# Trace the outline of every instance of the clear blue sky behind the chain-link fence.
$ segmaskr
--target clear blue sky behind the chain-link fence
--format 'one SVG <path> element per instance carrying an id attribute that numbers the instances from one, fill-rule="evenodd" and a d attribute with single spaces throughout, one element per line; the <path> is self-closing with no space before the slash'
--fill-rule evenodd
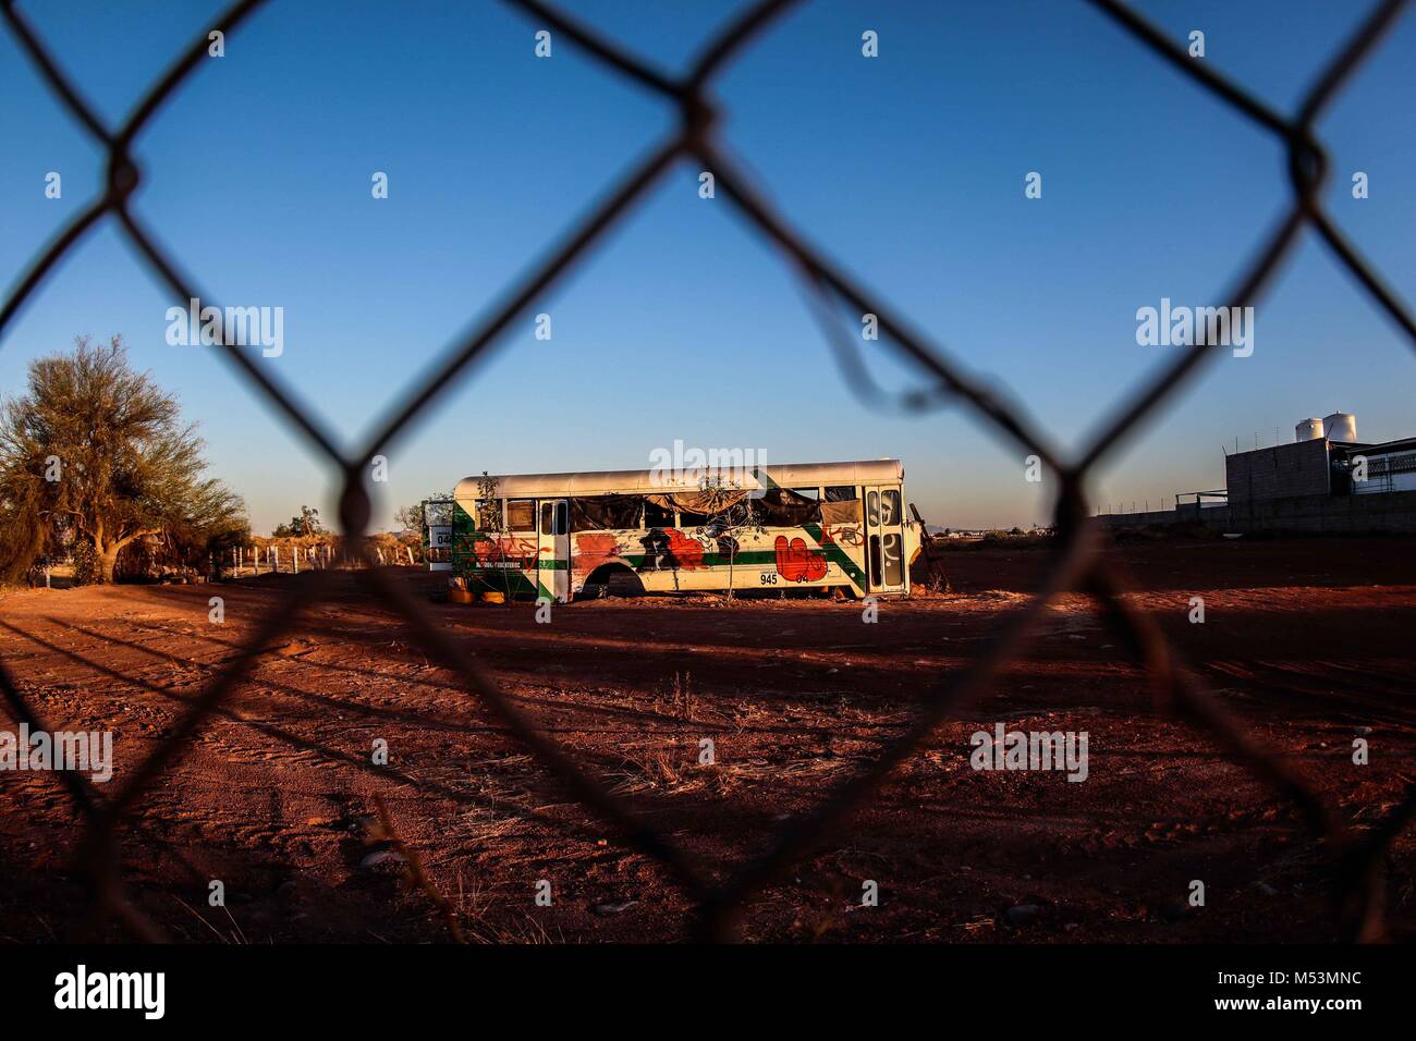
<path id="1" fill-rule="evenodd" d="M 38 34 L 118 122 L 222 7 L 24 3 Z M 1205 61 L 1291 110 L 1368 10 L 1317 0 L 1137 7 Z M 681 69 L 742 4 L 566 4 Z M 263 358 L 347 442 L 396 388 L 489 313 L 558 234 L 671 130 L 657 98 L 569 40 L 481 3 L 282 3 L 205 59 L 137 142 L 136 210 L 222 305 L 282 306 Z M 860 52 L 864 30 L 881 57 Z M 1328 205 L 1416 297 L 1416 16 L 1321 122 Z M 1070 449 L 1172 348 L 1136 310 L 1219 293 L 1289 203 L 1280 146 L 1073 0 L 806 3 L 718 82 L 722 139 L 784 215 Z M 0 31 L 0 278 L 99 190 L 99 150 Z M 48 171 L 64 177 L 44 197 Z M 370 195 L 375 170 L 389 198 Z M 1024 198 L 1041 171 L 1044 197 Z M 1352 200 L 1362 170 L 1371 197 Z M 377 524 L 398 504 L 493 473 L 647 467 L 657 446 L 769 460 L 898 456 L 927 520 L 1046 518 L 1049 489 L 964 408 L 881 415 L 843 382 L 784 263 L 680 166 L 472 380 L 389 450 Z M 333 514 L 330 469 L 211 348 L 171 347 L 174 300 L 110 224 L 92 232 L 0 341 L 0 392 L 78 334 L 122 333 L 201 423 L 214 473 L 266 531 L 302 503 Z M 847 320 L 850 317 L 847 316 Z M 851 326 L 848 324 L 850 330 Z M 868 344 L 882 382 L 919 385 Z M 1143 506 L 1223 483 L 1252 448 L 1334 409 L 1364 439 L 1416 433 L 1416 357 L 1311 232 L 1257 314 L 1253 357 L 1223 357 L 1107 459 L 1095 497 Z"/>

